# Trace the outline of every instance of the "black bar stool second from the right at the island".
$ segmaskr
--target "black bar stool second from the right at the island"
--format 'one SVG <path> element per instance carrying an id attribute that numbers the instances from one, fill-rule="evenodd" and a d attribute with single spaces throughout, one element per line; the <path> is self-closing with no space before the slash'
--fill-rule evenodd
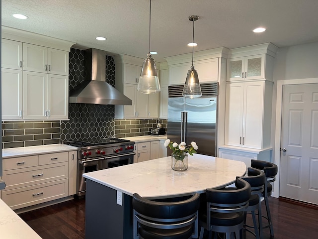
<path id="1" fill-rule="evenodd" d="M 244 228 L 246 231 L 251 232 L 248 230 L 246 227 L 249 227 L 246 225 L 246 213 L 250 212 L 252 215 L 253 219 L 253 224 L 254 224 L 254 232 L 251 232 L 254 234 L 256 239 L 261 239 L 263 235 L 263 230 L 262 226 L 259 227 L 257 226 L 256 223 L 256 210 L 257 210 L 257 215 L 258 215 L 258 225 L 262 225 L 262 213 L 261 213 L 261 200 L 260 198 L 262 197 L 262 193 L 264 191 L 264 185 L 265 185 L 265 173 L 262 172 L 259 169 L 256 168 L 247 168 L 247 176 L 244 177 L 237 177 L 245 180 L 250 184 L 250 189 L 251 189 L 251 196 L 248 201 L 248 207 L 245 209 L 244 212 Z"/>

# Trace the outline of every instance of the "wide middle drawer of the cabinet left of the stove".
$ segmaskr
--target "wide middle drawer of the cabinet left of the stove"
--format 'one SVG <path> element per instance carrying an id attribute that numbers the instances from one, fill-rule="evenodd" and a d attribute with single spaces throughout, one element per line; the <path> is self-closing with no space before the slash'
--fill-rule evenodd
<path id="1" fill-rule="evenodd" d="M 4 171 L 5 190 L 68 178 L 68 162 Z"/>

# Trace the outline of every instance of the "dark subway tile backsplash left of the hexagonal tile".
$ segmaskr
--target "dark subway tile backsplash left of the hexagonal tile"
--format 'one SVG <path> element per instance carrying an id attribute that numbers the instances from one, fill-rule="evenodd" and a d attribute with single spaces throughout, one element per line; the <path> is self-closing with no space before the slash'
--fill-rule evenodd
<path id="1" fill-rule="evenodd" d="M 60 121 L 2 121 L 2 148 L 60 143 Z"/>

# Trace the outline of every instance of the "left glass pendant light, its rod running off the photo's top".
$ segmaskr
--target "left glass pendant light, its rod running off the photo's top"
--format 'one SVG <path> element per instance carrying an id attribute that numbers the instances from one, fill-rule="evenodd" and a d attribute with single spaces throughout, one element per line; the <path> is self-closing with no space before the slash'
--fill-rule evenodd
<path id="1" fill-rule="evenodd" d="M 156 70 L 156 63 L 150 54 L 150 33 L 151 33 L 151 0 L 149 11 L 149 53 L 144 60 L 143 68 L 138 81 L 137 90 L 144 94 L 152 94 L 160 91 L 159 77 Z"/>

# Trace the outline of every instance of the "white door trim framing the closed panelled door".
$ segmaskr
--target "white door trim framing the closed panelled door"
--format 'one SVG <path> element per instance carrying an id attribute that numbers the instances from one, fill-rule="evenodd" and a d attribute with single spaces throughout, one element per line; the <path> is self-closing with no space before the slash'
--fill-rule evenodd
<path id="1" fill-rule="evenodd" d="M 318 78 L 305 78 L 293 80 L 280 80 L 277 81 L 276 93 L 276 120 L 275 120 L 275 146 L 274 146 L 274 163 L 278 167 L 276 181 L 274 182 L 272 196 L 279 197 L 279 177 L 280 177 L 280 151 L 281 146 L 281 124 L 282 124 L 282 104 L 283 104 L 283 86 L 285 85 L 300 85 L 318 83 Z"/>

